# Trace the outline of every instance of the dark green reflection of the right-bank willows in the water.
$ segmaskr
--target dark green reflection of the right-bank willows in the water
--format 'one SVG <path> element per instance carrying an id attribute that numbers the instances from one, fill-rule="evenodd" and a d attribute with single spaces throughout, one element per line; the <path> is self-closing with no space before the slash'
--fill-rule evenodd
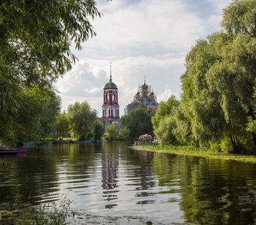
<path id="1" fill-rule="evenodd" d="M 254 164 L 155 154 L 154 171 L 160 177 L 158 184 L 169 187 L 165 193 L 181 194 L 180 207 L 187 223 L 254 223 Z"/>

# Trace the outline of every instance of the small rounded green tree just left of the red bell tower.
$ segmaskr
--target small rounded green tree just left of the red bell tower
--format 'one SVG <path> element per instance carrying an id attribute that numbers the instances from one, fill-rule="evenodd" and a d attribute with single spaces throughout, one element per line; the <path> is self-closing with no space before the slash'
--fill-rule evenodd
<path id="1" fill-rule="evenodd" d="M 78 139 L 87 139 L 88 134 L 92 133 L 93 123 L 96 121 L 96 110 L 92 110 L 87 101 L 84 101 L 69 105 L 68 111 L 72 131 L 78 135 Z"/>

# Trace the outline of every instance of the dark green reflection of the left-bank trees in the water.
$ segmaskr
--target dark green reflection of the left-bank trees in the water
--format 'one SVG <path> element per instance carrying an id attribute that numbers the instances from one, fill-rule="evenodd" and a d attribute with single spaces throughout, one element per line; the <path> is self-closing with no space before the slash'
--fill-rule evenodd
<path id="1" fill-rule="evenodd" d="M 59 175 L 71 180 L 86 177 L 98 148 L 77 144 L 41 145 L 29 149 L 26 157 L 9 157 L 0 164 L 0 208 L 4 202 L 34 205 L 58 200 Z"/>

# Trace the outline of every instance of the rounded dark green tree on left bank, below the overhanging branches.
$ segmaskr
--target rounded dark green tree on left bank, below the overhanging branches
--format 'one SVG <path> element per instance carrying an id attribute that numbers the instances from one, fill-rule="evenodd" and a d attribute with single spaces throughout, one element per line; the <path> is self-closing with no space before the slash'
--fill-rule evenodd
<path id="1" fill-rule="evenodd" d="M 14 145 L 44 138 L 54 130 L 59 109 L 60 99 L 51 89 L 24 87 L 17 99 L 17 110 L 2 124 L 2 142 Z"/>

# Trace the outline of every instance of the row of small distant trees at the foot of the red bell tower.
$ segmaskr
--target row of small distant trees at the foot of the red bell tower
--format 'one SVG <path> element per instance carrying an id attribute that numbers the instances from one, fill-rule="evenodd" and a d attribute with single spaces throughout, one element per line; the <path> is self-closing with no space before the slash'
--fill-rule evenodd
<path id="1" fill-rule="evenodd" d="M 120 124 L 110 124 L 105 127 L 96 117 L 96 111 L 84 101 L 69 106 L 68 112 L 59 114 L 56 119 L 56 131 L 72 133 L 75 139 L 108 139 L 133 140 L 138 139 L 142 133 L 153 134 L 151 122 L 152 114 L 145 107 L 132 110 L 131 113 L 120 118 Z M 105 133 L 105 136 L 103 134 Z"/>

